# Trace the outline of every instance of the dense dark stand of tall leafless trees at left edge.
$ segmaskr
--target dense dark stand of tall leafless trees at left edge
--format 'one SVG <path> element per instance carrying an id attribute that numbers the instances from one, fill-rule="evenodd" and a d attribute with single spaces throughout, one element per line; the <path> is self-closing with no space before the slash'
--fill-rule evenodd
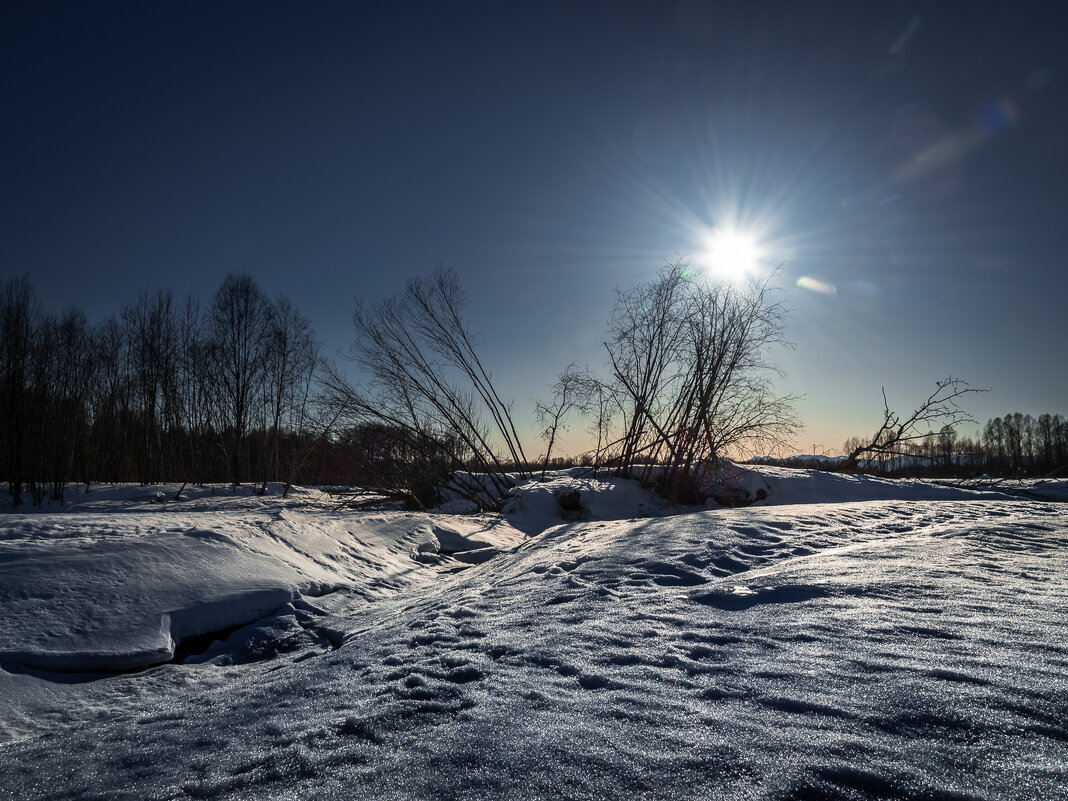
<path id="1" fill-rule="evenodd" d="M 313 420 L 319 344 L 285 297 L 231 274 L 202 308 L 144 292 L 90 325 L 0 284 L 0 470 L 17 505 L 70 483 L 294 482 Z"/>

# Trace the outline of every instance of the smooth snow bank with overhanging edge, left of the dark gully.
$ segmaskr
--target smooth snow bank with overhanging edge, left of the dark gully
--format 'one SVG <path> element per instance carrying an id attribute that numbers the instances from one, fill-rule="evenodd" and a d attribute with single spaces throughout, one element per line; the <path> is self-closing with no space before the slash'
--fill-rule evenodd
<path id="1" fill-rule="evenodd" d="M 106 507 L 109 489 L 66 508 Z M 407 513 L 360 515 L 356 525 L 354 514 L 299 491 L 293 501 L 220 494 L 160 504 L 115 489 L 110 514 L 3 517 L 0 663 L 6 668 L 147 668 L 173 659 L 183 642 L 337 588 L 373 599 L 426 581 L 431 572 L 413 552 L 431 564 L 445 548 L 481 548 L 488 557 L 520 536 L 498 527 L 488 539 L 469 537 L 482 528 L 478 518 L 431 524 Z"/>

